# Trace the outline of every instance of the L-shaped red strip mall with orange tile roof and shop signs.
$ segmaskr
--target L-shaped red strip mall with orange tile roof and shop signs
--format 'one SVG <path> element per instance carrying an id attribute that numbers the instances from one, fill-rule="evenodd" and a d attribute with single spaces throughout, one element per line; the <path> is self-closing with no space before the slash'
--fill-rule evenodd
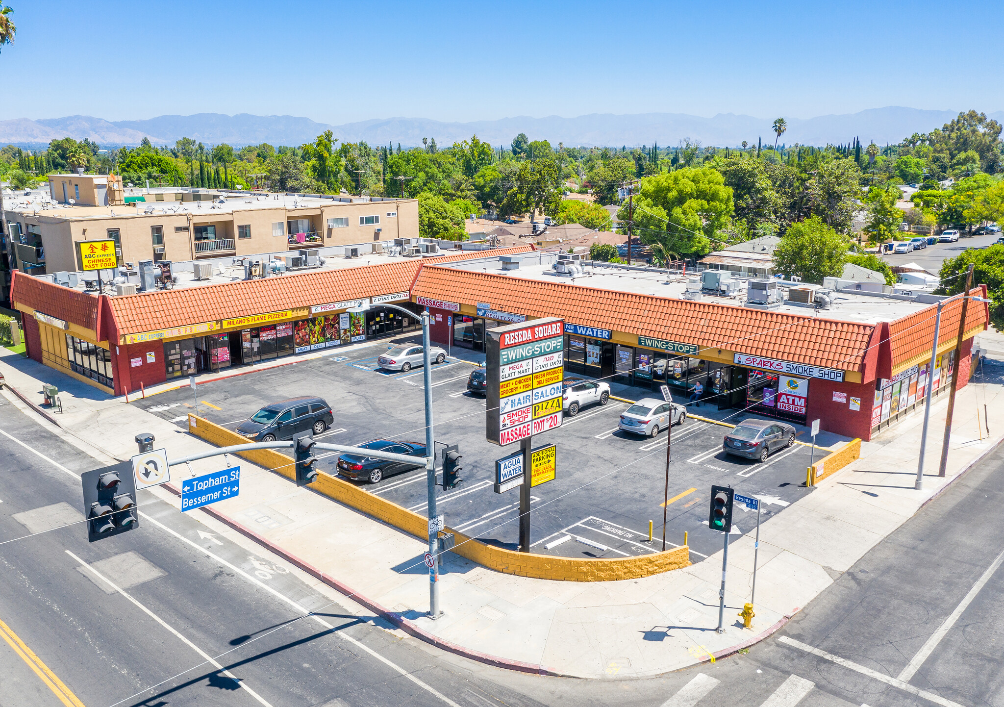
<path id="1" fill-rule="evenodd" d="M 625 384 L 639 397 L 665 385 L 683 400 L 700 384 L 705 404 L 797 424 L 818 418 L 823 430 L 863 440 L 923 405 L 928 386 L 941 393 L 954 375 L 966 385 L 973 336 L 989 321 L 986 305 L 971 302 L 957 363 L 962 301 L 944 306 L 929 371 L 933 295 L 839 290 L 819 309 L 789 293 L 764 308 L 745 302 L 746 290 L 684 299 L 686 277 L 665 270 L 586 265 L 569 277 L 557 258 L 525 246 L 446 251 L 121 296 L 16 273 L 11 298 L 32 359 L 113 395 L 417 330 L 380 306 L 394 302 L 428 309 L 434 341 L 474 350 L 487 329 L 562 317 L 569 374 Z M 359 302 L 369 310 L 346 311 Z"/>

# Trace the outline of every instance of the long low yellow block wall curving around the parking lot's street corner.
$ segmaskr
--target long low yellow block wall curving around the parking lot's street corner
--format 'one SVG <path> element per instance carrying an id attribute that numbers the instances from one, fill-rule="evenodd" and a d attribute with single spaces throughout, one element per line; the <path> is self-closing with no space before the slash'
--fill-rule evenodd
<path id="1" fill-rule="evenodd" d="M 195 415 L 189 415 L 189 432 L 221 447 L 247 444 L 246 438 Z M 860 444 L 858 444 L 858 448 L 860 448 Z M 296 478 L 293 460 L 279 452 L 271 449 L 252 449 L 239 452 L 238 456 L 288 479 Z M 347 481 L 321 471 L 317 474 L 317 480 L 310 484 L 310 488 L 411 535 L 422 539 L 429 537 L 428 520 L 425 516 L 367 493 Z M 454 533 L 457 541 L 453 552 L 462 557 L 506 574 L 532 576 L 539 579 L 566 581 L 638 579 L 686 567 L 691 563 L 690 548 L 687 545 L 637 557 L 577 559 L 532 552 L 517 552 L 485 544 L 456 530 L 451 530 L 451 532 Z"/>

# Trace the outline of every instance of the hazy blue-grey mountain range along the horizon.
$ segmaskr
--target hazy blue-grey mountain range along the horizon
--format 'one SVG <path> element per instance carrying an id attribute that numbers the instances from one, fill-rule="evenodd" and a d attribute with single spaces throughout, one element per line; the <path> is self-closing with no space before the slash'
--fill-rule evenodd
<path id="1" fill-rule="evenodd" d="M 891 105 L 855 113 L 818 115 L 809 119 L 787 117 L 788 129 L 781 137 L 787 145 L 826 145 L 848 143 L 859 138 L 876 145 L 899 143 L 914 133 L 929 133 L 951 121 L 957 111 L 922 110 Z M 1004 122 L 1004 111 L 989 113 Z M 614 115 L 591 113 L 577 117 L 529 117 L 520 115 L 497 121 L 444 123 L 423 117 L 389 117 L 328 126 L 308 117 L 293 115 L 251 115 L 203 112 L 194 115 L 159 115 L 145 121 L 106 121 L 90 115 L 31 121 L 19 117 L 0 121 L 0 145 L 25 147 L 47 144 L 50 140 L 70 137 L 87 138 L 102 147 L 139 145 L 146 137 L 155 145 L 174 145 L 181 138 L 192 138 L 207 145 L 229 143 L 233 146 L 302 145 L 330 130 L 335 139 L 353 143 L 364 140 L 370 145 L 400 143 L 403 147 L 422 144 L 434 138 L 443 147 L 477 135 L 492 145 L 509 145 L 519 133 L 530 140 L 547 140 L 553 146 L 675 146 L 690 138 L 703 145 L 735 147 L 761 139 L 773 143 L 772 119 L 736 113 L 718 113 L 712 117 L 687 113 L 634 113 Z"/>

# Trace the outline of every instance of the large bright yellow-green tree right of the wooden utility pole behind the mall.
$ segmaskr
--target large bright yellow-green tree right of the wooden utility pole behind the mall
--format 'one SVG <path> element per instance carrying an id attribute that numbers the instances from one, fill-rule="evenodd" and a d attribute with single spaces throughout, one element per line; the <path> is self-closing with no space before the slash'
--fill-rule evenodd
<path id="1" fill-rule="evenodd" d="M 629 220 L 629 204 L 617 219 Z M 684 167 L 646 177 L 635 198 L 634 222 L 643 243 L 659 243 L 674 253 L 705 254 L 733 213 L 732 189 L 710 167 Z"/>

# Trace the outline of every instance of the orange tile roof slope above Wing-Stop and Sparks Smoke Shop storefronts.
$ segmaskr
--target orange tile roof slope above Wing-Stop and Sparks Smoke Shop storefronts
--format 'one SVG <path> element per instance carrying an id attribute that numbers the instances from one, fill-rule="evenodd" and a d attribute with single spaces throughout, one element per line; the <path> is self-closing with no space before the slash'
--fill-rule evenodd
<path id="1" fill-rule="evenodd" d="M 561 316 L 586 326 L 845 371 L 861 370 L 874 328 L 430 265 L 422 268 L 412 294 L 465 303 L 488 299 L 497 308 L 527 316 Z"/>

